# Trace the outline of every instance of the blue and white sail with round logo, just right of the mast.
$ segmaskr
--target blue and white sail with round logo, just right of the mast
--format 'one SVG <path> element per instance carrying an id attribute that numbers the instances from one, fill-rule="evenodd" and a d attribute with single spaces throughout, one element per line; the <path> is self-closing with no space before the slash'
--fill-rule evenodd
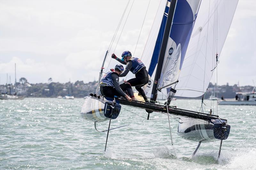
<path id="1" fill-rule="evenodd" d="M 160 87 L 177 81 L 179 77 L 200 3 L 201 0 L 177 0 L 159 78 Z M 168 93 L 168 89 L 163 90 L 163 98 L 167 98 Z"/>

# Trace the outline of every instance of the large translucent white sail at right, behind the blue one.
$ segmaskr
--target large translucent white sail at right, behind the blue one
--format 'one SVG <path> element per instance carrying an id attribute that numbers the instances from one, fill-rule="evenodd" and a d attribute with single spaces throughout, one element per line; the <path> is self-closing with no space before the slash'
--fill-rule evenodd
<path id="1" fill-rule="evenodd" d="M 180 71 L 175 96 L 198 97 L 206 91 L 216 53 L 226 40 L 238 0 L 202 1 Z M 179 90 L 183 89 L 183 90 Z"/>

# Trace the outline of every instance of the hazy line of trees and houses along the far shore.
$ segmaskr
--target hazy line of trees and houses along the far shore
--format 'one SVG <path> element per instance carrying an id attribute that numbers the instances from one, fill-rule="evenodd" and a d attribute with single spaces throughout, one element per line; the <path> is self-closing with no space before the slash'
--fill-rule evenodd
<path id="1" fill-rule="evenodd" d="M 75 98 L 83 98 L 88 96 L 90 93 L 93 93 L 97 86 L 97 81 L 84 83 L 84 81 L 76 81 L 75 83 L 67 82 L 67 83 L 59 83 L 52 82 L 52 78 L 48 79 L 48 83 L 36 83 L 30 84 L 26 78 L 20 78 L 19 82 L 16 83 L 16 90 L 14 89 L 14 85 L 6 84 L 0 85 L 1 93 L 14 93 L 16 92 L 19 96 L 25 97 L 52 97 L 56 98 L 57 96 L 74 96 Z M 209 84 L 208 90 L 205 94 L 205 99 L 209 98 L 211 95 L 215 95 L 215 97 L 221 98 L 234 98 L 236 96 L 236 92 L 251 92 L 253 86 L 238 86 L 233 85 L 212 85 Z M 218 92 L 218 94 L 217 94 Z M 179 98 L 179 97 L 177 97 Z M 197 97 L 196 99 L 201 99 L 201 97 Z"/>

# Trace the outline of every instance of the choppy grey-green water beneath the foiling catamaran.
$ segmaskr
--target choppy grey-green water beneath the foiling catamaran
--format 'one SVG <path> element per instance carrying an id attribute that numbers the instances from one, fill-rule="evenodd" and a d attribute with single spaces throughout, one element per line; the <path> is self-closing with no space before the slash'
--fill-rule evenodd
<path id="1" fill-rule="evenodd" d="M 166 115 L 152 113 L 145 120 L 124 109 L 111 127 L 99 133 L 93 122 L 80 117 L 84 99 L 26 98 L 1 100 L 0 169 L 256 169 L 256 107 L 218 106 L 218 115 L 228 118 L 230 135 L 223 141 L 197 143 L 177 136 L 171 119 L 173 146 Z M 171 105 L 198 110 L 200 100 L 176 100 Z M 210 108 L 210 101 L 205 103 Z M 144 110 L 124 107 L 146 117 Z M 216 106 L 215 106 L 216 110 Z M 101 122 L 98 129 L 108 128 Z"/>

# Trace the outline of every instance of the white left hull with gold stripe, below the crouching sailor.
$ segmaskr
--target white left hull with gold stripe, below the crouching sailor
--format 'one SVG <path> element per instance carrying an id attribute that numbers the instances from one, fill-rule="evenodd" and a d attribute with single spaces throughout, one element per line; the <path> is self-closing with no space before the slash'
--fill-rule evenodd
<path id="1" fill-rule="evenodd" d="M 80 114 L 88 121 L 103 122 L 109 120 L 109 118 L 104 116 L 104 107 L 105 101 L 90 97 L 85 99 Z"/>

